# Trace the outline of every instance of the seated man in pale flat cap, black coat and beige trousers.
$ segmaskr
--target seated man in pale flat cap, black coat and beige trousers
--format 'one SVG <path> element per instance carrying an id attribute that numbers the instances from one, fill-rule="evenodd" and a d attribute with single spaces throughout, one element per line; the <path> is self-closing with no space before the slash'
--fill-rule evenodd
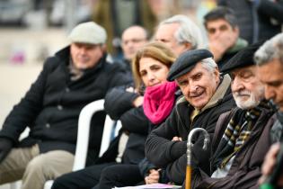
<path id="1" fill-rule="evenodd" d="M 22 179 L 22 189 L 42 189 L 46 180 L 70 172 L 77 121 L 84 105 L 129 82 L 119 64 L 106 61 L 106 31 L 77 25 L 71 44 L 48 58 L 37 80 L 13 107 L 0 131 L 0 184 Z M 89 156 L 98 157 L 105 112 L 93 116 Z M 31 129 L 19 141 L 22 131 Z"/>

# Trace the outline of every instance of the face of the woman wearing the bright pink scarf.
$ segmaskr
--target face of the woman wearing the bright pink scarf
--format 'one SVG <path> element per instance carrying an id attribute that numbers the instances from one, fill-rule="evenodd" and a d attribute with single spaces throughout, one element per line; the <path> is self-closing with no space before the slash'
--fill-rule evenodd
<path id="1" fill-rule="evenodd" d="M 139 60 L 139 74 L 146 86 L 162 84 L 166 81 L 169 68 L 154 58 Z"/>

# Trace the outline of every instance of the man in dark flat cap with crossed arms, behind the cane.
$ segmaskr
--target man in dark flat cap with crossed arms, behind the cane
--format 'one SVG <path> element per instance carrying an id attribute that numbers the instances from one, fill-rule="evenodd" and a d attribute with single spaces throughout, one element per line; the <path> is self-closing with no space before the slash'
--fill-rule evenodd
<path id="1" fill-rule="evenodd" d="M 183 184 L 186 170 L 187 138 L 190 130 L 203 128 L 212 139 L 219 115 L 234 107 L 230 76 L 220 76 L 207 49 L 183 52 L 172 65 L 167 80 L 175 80 L 183 96 L 168 119 L 146 139 L 146 157 L 164 167 L 169 179 Z M 203 150 L 203 137 L 193 139 L 192 164 L 209 173 L 209 150 Z"/>

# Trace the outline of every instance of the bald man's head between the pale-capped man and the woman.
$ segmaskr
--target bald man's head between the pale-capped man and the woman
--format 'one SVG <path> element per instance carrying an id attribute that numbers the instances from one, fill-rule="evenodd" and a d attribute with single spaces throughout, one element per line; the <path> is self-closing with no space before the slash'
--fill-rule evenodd
<path id="1" fill-rule="evenodd" d="M 131 60 L 137 49 L 140 49 L 148 41 L 147 31 L 141 26 L 130 26 L 122 33 L 122 49 L 124 57 Z"/>

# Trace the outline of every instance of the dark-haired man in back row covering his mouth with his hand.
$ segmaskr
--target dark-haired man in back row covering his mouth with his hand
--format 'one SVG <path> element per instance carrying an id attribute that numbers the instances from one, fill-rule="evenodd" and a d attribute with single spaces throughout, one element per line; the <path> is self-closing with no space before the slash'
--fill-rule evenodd
<path id="1" fill-rule="evenodd" d="M 226 7 L 217 7 L 204 16 L 208 32 L 208 49 L 214 55 L 219 70 L 248 42 L 239 38 L 239 27 L 234 12 Z"/>

